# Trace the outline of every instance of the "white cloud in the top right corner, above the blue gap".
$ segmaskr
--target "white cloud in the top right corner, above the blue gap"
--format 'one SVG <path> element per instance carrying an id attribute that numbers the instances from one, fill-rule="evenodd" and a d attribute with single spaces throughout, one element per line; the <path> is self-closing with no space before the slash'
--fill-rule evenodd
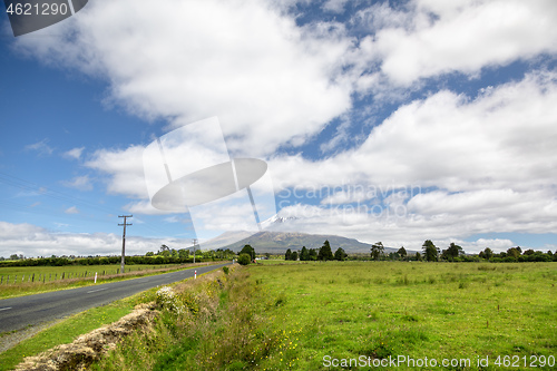
<path id="1" fill-rule="evenodd" d="M 417 0 L 409 7 L 410 25 L 387 27 L 374 36 L 381 71 L 397 84 L 453 71 L 473 76 L 483 67 L 557 52 L 553 0 Z M 399 12 L 387 16 L 393 25 L 400 22 Z"/>

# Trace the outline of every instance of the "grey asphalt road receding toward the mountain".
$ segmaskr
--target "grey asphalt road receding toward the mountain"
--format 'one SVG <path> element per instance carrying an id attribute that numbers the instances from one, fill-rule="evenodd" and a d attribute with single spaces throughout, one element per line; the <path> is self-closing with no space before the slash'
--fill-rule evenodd
<path id="1" fill-rule="evenodd" d="M 62 319 L 152 287 L 193 277 L 195 270 L 197 274 L 203 274 L 229 264 L 232 263 L 197 266 L 192 270 L 147 277 L 3 299 L 0 300 L 0 332 L 20 330 L 28 325 Z"/>

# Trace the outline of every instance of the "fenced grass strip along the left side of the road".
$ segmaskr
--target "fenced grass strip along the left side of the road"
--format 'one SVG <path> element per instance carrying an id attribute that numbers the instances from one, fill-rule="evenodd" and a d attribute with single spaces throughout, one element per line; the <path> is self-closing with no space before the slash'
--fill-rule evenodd
<path id="1" fill-rule="evenodd" d="M 75 289 L 95 285 L 95 273 L 97 283 L 108 283 L 130 280 L 135 277 L 168 273 L 173 271 L 193 269 L 207 263 L 194 264 L 166 264 L 166 265 L 126 265 L 125 274 L 116 274 L 120 265 L 69 265 L 69 266 L 17 266 L 0 267 L 0 276 L 3 275 L 3 284 L 0 284 L 0 299 L 38 294 L 43 292 Z M 211 262 L 209 264 L 216 264 Z M 29 282 L 35 273 L 35 282 Z M 105 273 L 105 274 L 102 274 Z M 61 276 L 63 280 L 60 280 Z M 10 283 L 6 280 L 10 276 Z M 17 279 L 17 282 L 14 282 Z M 25 277 L 25 279 L 23 279 Z M 40 277 L 40 279 L 39 279 Z M 43 282 L 45 279 L 45 282 Z M 56 279 L 56 280 L 55 280 Z"/>

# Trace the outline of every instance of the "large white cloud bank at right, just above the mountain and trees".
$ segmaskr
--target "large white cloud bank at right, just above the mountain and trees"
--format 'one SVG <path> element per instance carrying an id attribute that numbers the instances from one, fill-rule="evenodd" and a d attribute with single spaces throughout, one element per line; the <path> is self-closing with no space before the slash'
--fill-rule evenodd
<path id="1" fill-rule="evenodd" d="M 342 207 L 333 212 L 311 207 L 315 215 L 306 215 L 309 209 L 302 206 L 283 212 L 301 214 L 297 216 L 303 218 L 295 225 L 302 231 L 368 242 L 395 243 L 404 236 L 401 243 L 416 245 L 423 236 L 554 233 L 555 101 L 557 77 L 534 72 L 521 81 L 488 89 L 473 100 L 444 90 L 404 105 L 359 148 L 316 162 L 277 157 L 271 169 L 281 188 L 361 185 L 369 189 L 374 185 L 378 189 L 416 189 L 408 204 L 404 197 L 388 197 L 381 217 Z M 426 193 L 428 187 L 439 191 Z M 339 193 L 323 204 L 353 199 Z"/>

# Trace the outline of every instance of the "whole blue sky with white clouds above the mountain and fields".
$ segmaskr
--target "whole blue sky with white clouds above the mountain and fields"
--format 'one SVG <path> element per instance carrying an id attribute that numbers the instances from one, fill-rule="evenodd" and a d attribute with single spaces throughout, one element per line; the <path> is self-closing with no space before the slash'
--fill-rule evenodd
<path id="1" fill-rule="evenodd" d="M 274 231 L 555 251 L 555 19 L 554 0 L 90 0 L 16 38 L 4 13 L 0 256 L 119 254 L 119 215 L 129 254 L 237 228 L 238 208 L 152 204 L 148 146 L 208 119 L 267 164 Z"/>

